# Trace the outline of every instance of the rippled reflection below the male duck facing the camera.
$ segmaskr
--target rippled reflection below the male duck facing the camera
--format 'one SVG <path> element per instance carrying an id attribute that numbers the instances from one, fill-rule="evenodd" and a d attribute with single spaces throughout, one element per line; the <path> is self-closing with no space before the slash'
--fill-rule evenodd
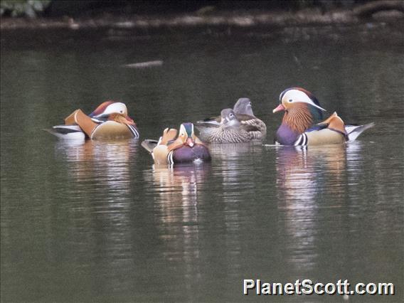
<path id="1" fill-rule="evenodd" d="M 201 163 L 154 165 L 145 171 L 146 183 L 152 184 L 149 188 L 154 191 L 156 228 L 165 245 L 163 257 L 187 276 L 200 276 L 198 201 L 205 201 L 199 196 L 206 192 L 202 186 L 210 169 L 210 164 Z M 186 279 L 186 289 L 194 282 Z"/>

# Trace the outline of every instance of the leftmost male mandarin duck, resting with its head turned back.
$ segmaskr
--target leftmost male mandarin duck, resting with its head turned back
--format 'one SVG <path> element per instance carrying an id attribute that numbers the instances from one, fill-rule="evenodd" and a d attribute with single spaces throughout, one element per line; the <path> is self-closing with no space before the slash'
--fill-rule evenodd
<path id="1" fill-rule="evenodd" d="M 134 121 L 127 115 L 124 103 L 103 102 L 90 115 L 75 110 L 65 118 L 65 124 L 56 125 L 50 133 L 63 139 L 120 139 L 139 138 Z"/>

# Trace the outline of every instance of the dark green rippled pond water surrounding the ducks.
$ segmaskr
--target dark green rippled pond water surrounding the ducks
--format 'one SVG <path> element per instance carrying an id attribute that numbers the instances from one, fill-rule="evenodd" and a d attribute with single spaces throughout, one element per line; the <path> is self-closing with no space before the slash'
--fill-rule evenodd
<path id="1" fill-rule="evenodd" d="M 397 292 L 349 302 L 402 302 L 403 33 L 371 29 L 2 34 L 1 301 L 346 302 L 242 287 L 347 279 Z M 163 65 L 123 67 L 150 60 Z M 211 164 L 174 169 L 154 167 L 137 141 L 72 144 L 42 130 L 113 99 L 141 139 L 157 138 L 250 97 L 271 144 L 272 109 L 297 85 L 328 114 L 376 127 L 305 152 L 216 145 Z"/>

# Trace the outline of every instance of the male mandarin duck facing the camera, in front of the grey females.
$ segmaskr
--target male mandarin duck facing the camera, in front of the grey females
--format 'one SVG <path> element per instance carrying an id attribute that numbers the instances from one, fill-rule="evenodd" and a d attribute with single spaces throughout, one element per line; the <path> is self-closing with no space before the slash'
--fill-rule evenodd
<path id="1" fill-rule="evenodd" d="M 142 147 L 150 152 L 156 164 L 180 164 L 196 160 L 211 161 L 208 148 L 196 137 L 192 123 L 183 123 L 176 138 L 176 129 L 164 129 L 159 141 L 146 139 Z"/>

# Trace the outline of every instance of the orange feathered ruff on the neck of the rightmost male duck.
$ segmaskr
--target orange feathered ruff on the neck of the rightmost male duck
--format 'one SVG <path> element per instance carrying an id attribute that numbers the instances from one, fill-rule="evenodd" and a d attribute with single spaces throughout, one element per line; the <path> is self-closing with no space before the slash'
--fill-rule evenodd
<path id="1" fill-rule="evenodd" d="M 306 105 L 296 105 L 285 112 L 282 124 L 298 134 L 302 134 L 313 124 L 313 116 Z"/>

